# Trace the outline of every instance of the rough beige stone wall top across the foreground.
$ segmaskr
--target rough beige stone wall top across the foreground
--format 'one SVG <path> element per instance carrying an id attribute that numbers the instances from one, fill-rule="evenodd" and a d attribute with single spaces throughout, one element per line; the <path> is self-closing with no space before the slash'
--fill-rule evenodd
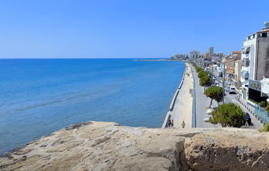
<path id="1" fill-rule="evenodd" d="M 269 170 L 267 132 L 86 122 L 6 153 L 0 170 Z"/>

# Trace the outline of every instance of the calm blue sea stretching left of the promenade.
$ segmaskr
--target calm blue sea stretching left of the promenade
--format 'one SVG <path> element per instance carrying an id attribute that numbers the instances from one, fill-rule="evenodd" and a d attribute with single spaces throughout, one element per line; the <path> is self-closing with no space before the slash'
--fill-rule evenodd
<path id="1" fill-rule="evenodd" d="M 71 124 L 160 128 L 182 61 L 0 59 L 0 155 Z"/>

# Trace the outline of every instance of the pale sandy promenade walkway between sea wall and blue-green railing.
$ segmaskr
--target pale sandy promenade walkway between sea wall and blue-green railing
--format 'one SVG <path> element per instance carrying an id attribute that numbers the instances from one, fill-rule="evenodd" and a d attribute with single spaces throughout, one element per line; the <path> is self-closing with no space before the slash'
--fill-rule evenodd
<path id="1" fill-rule="evenodd" d="M 192 127 L 192 95 L 189 93 L 189 89 L 193 87 L 193 78 L 190 64 L 185 64 L 185 78 L 176 98 L 174 109 L 169 112 L 171 120 L 174 120 L 175 128 L 182 128 L 181 124 L 183 121 L 186 124 L 185 128 Z"/>

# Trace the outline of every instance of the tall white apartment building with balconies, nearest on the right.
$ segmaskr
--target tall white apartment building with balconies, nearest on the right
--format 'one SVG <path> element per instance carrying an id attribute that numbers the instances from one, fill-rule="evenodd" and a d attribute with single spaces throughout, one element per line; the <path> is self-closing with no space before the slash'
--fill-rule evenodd
<path id="1" fill-rule="evenodd" d="M 269 22 L 259 32 L 247 36 L 241 54 L 240 81 L 269 78 Z"/>

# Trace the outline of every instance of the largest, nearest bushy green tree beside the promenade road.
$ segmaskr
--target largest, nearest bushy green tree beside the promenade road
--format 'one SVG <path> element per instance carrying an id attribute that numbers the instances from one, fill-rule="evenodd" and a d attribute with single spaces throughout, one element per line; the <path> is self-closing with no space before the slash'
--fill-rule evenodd
<path id="1" fill-rule="evenodd" d="M 234 103 L 222 104 L 212 112 L 209 122 L 212 124 L 220 123 L 222 127 L 240 128 L 245 123 L 246 114 Z"/>

